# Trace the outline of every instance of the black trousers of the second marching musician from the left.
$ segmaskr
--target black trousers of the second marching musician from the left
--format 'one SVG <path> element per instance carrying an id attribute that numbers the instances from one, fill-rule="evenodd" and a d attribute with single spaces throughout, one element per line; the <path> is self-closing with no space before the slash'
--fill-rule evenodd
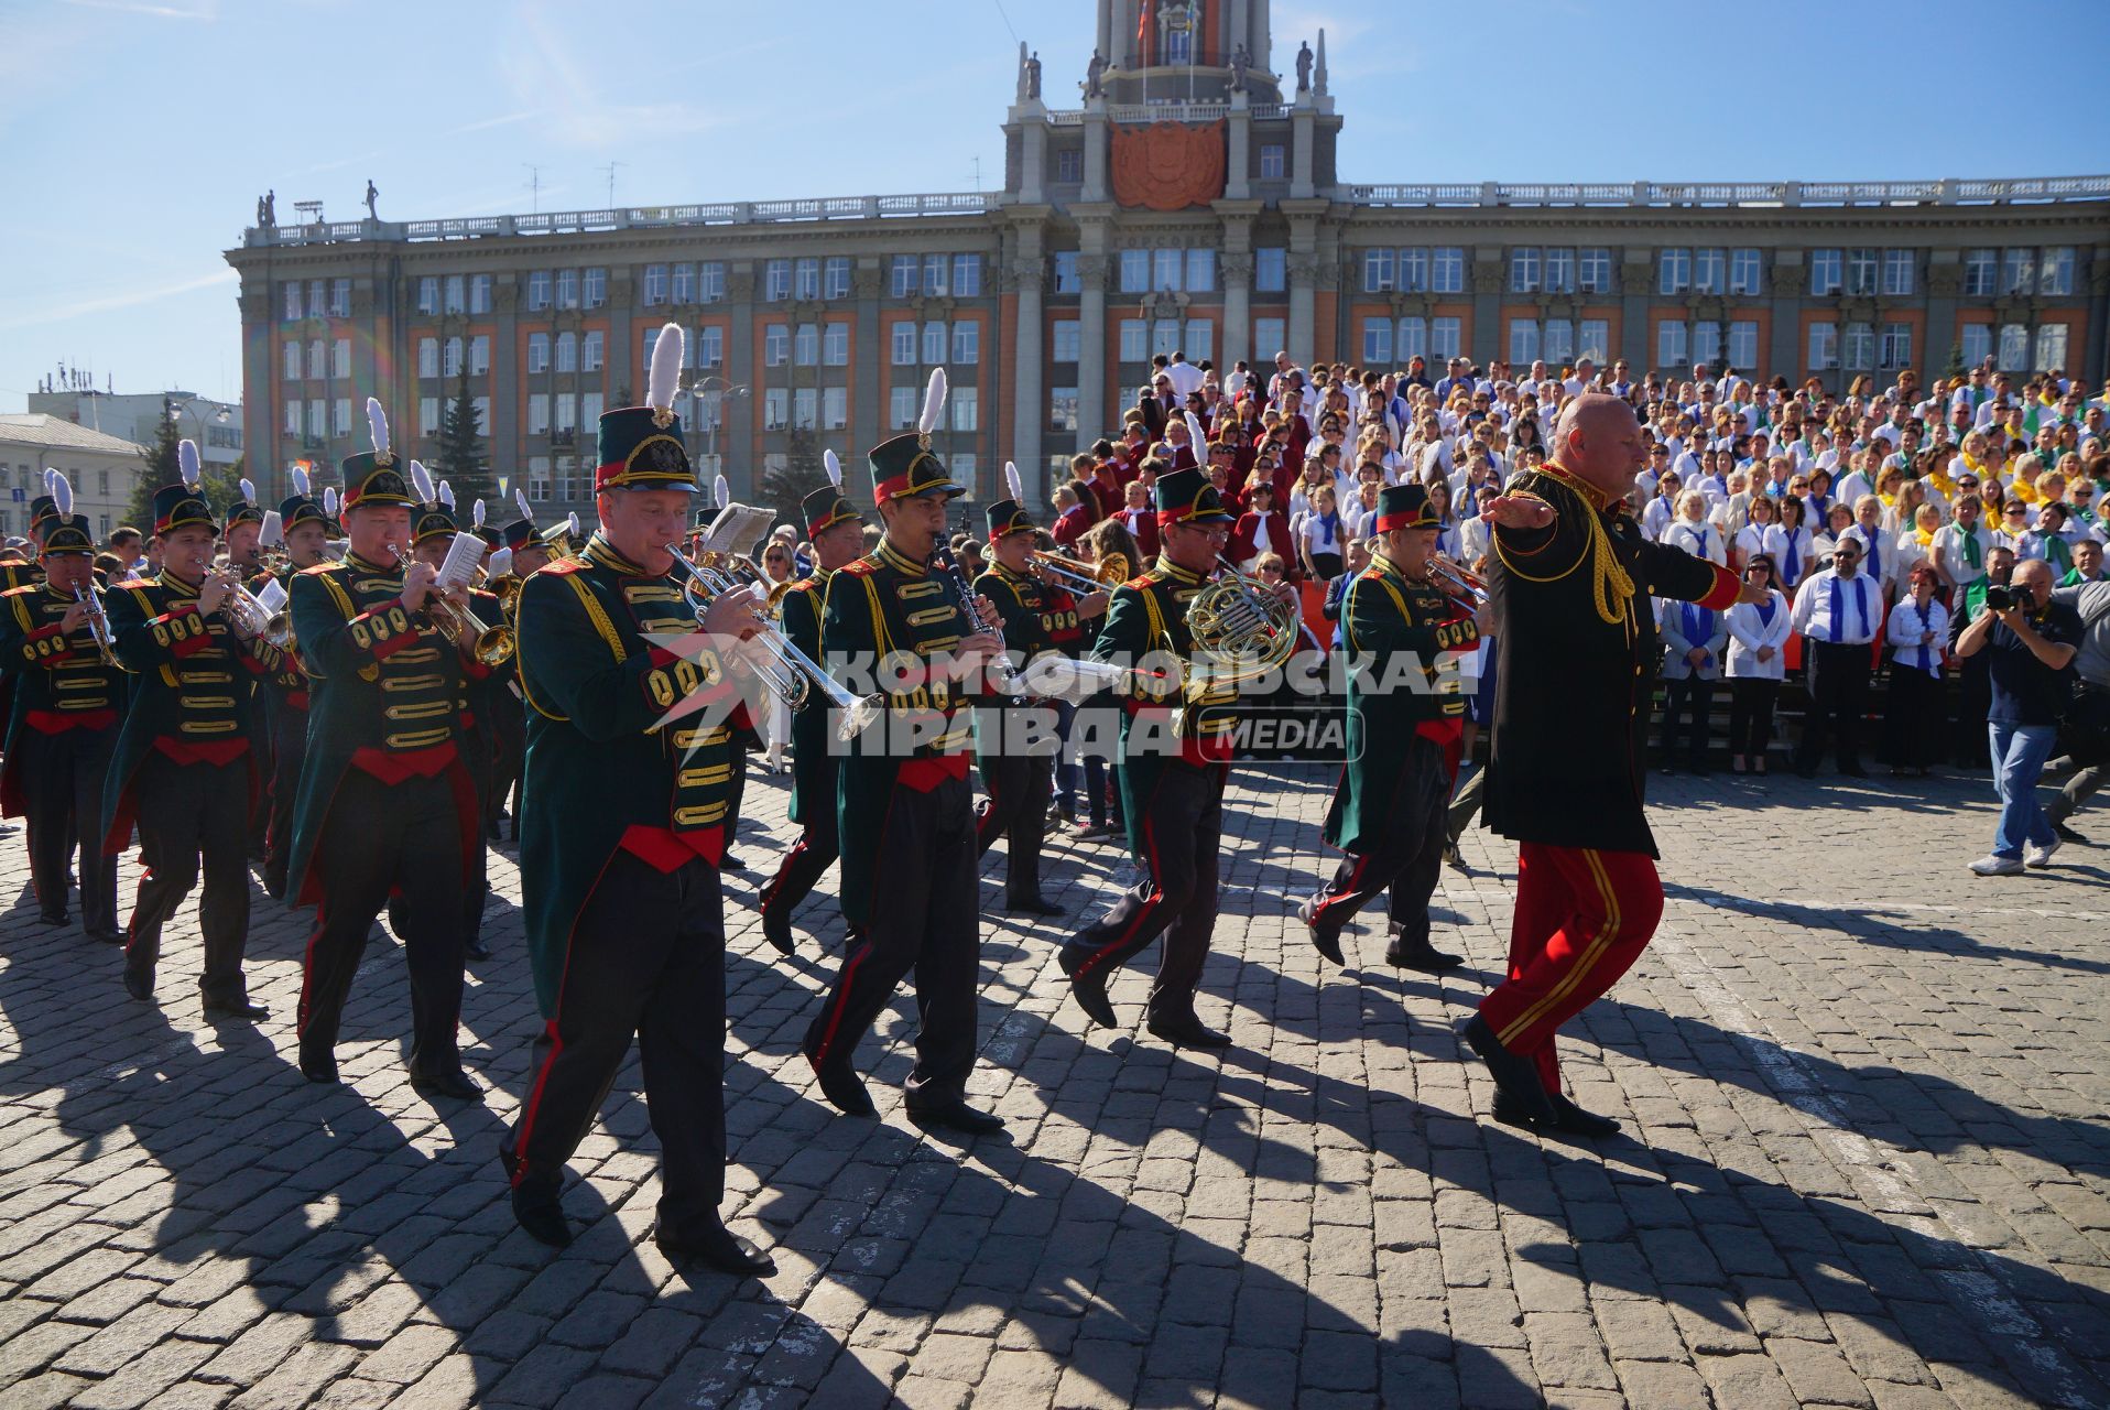
<path id="1" fill-rule="evenodd" d="M 124 971 L 154 982 L 160 963 L 160 927 L 184 903 L 205 872 L 198 931 L 205 973 L 198 990 L 211 1003 L 247 998 L 243 948 L 249 944 L 249 760 L 232 764 L 177 764 L 148 754 L 133 775 L 139 800 L 139 899 L 133 901 L 124 941 Z"/>

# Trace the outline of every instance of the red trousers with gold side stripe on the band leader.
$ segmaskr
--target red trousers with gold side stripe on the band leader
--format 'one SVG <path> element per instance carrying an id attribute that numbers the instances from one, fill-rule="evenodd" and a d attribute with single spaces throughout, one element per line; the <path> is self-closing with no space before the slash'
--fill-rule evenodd
<path id="1" fill-rule="evenodd" d="M 1479 1015 L 1502 1047 L 1538 1064 L 1547 1091 L 1561 1089 L 1555 1030 L 1627 973 L 1661 918 L 1663 882 L 1648 853 L 1523 844 L 1509 979 Z"/>

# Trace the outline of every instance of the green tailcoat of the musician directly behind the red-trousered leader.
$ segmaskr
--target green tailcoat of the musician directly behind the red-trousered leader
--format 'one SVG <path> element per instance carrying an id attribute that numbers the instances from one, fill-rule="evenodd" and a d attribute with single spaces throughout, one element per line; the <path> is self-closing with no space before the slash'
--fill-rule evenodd
<path id="1" fill-rule="evenodd" d="M 1325 840 L 1363 855 L 1390 821 L 1414 737 L 1464 716 L 1456 652 L 1471 652 L 1479 629 L 1382 555 L 1348 585 L 1340 621 L 1348 659 L 1367 659 L 1367 667 L 1348 678 L 1348 764 L 1327 808 Z"/>

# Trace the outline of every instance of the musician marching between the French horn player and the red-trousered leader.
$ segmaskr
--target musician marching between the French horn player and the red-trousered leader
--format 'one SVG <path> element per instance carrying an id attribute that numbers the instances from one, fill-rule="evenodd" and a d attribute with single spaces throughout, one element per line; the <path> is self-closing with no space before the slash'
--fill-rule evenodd
<path id="1" fill-rule="evenodd" d="M 1361 667 L 1348 680 L 1348 764 L 1325 819 L 1346 853 L 1334 880 L 1298 910 L 1312 946 L 1344 963 L 1340 931 L 1380 891 L 1401 920 L 1386 965 L 1447 969 L 1428 944 L 1428 897 L 1443 865 L 1445 808 L 1464 724 L 1458 652 L 1479 642 L 1471 612 L 1428 580 L 1441 519 L 1418 483 L 1378 492 L 1378 549 L 1348 585 L 1342 644 Z M 1405 659 L 1420 682 L 1395 669 Z M 1426 686 L 1426 688 L 1424 688 Z"/>

